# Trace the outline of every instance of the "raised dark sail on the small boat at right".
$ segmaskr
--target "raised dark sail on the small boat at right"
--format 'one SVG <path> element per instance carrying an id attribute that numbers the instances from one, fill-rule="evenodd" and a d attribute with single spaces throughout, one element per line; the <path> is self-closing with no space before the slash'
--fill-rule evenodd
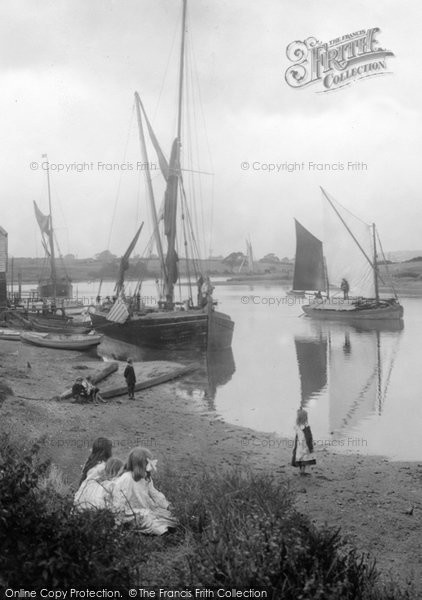
<path id="1" fill-rule="evenodd" d="M 322 242 L 296 221 L 296 260 L 294 290 L 326 291 Z"/>

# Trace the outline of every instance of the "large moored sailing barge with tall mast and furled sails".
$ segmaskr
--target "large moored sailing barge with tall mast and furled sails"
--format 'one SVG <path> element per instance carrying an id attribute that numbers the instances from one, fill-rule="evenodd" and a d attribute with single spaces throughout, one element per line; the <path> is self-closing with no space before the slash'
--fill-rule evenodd
<path id="1" fill-rule="evenodd" d="M 209 349 L 229 348 L 232 342 L 234 323 L 228 315 L 215 309 L 215 303 L 211 295 L 212 286 L 207 280 L 206 274 L 199 271 L 198 257 L 192 256 L 189 258 L 187 256 L 188 247 L 191 248 L 192 252 L 195 252 L 197 243 L 187 204 L 181 157 L 186 12 L 187 1 L 183 0 L 177 127 L 169 160 L 161 150 L 139 94 L 135 93 L 142 160 L 145 164 L 149 164 L 144 133 L 145 122 L 166 185 L 164 208 L 159 212 L 155 204 L 151 174 L 148 169 L 144 171 L 154 227 L 153 235 L 162 273 L 162 294 L 160 294 L 158 307 L 156 310 L 151 310 L 136 306 L 130 299 L 125 297 L 122 290 L 109 311 L 98 308 L 91 313 L 91 320 L 95 328 L 107 336 L 137 345 L 159 347 L 172 344 L 198 343 L 200 346 Z M 179 211 L 178 204 L 180 204 Z M 178 212 L 181 213 L 182 219 L 181 227 L 179 227 L 179 237 L 183 238 L 188 275 L 187 298 L 180 302 L 175 300 L 175 286 L 179 281 Z M 162 223 L 164 224 L 164 238 L 166 241 L 162 239 L 160 234 Z M 164 252 L 165 245 L 166 251 Z M 193 269 L 194 273 L 190 269 Z M 192 276 L 195 280 L 193 285 L 191 283 Z M 136 289 L 133 297 L 139 296 L 140 286 Z"/>

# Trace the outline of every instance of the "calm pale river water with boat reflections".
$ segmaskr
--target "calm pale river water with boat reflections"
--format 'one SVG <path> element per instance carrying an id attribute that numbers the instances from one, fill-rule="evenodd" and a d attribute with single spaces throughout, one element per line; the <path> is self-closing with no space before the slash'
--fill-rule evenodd
<path id="1" fill-rule="evenodd" d="M 78 284 L 79 296 L 95 297 L 97 285 Z M 102 295 L 112 287 L 105 283 Z M 155 298 L 153 282 L 143 296 Z M 214 297 L 235 321 L 232 352 L 145 354 L 110 339 L 98 352 L 194 360 L 199 369 L 177 393 L 206 402 L 226 422 L 291 438 L 304 406 L 319 446 L 422 460 L 421 299 L 401 299 L 402 328 L 362 329 L 300 316 L 300 304 L 276 285 L 218 285 Z"/>

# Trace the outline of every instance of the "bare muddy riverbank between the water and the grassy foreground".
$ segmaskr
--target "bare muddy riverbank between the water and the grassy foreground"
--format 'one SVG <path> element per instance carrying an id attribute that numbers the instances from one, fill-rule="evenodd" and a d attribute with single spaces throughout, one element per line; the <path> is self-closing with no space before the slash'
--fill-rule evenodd
<path id="1" fill-rule="evenodd" d="M 237 465 L 269 471 L 290 482 L 301 512 L 341 527 L 352 544 L 377 559 L 385 578 L 415 582 L 422 597 L 422 463 L 318 449 L 312 475 L 299 477 L 290 467 L 290 441 L 222 422 L 205 400 L 177 393 L 180 382 L 138 393 L 135 401 L 123 397 L 99 406 L 51 399 L 78 372 L 89 372 L 86 367 L 98 370 L 101 363 L 80 353 L 0 342 L 0 376 L 15 394 L 2 403 L 1 430 L 26 439 L 45 436 L 44 452 L 74 484 L 99 435 L 112 439 L 122 458 L 135 445 L 149 446 L 159 464 L 185 477 Z M 157 374 L 170 367 L 145 368 Z"/>

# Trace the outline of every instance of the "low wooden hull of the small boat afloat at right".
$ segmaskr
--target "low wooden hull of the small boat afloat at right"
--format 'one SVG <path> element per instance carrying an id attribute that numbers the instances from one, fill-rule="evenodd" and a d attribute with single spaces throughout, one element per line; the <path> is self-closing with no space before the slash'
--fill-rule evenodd
<path id="1" fill-rule="evenodd" d="M 347 304 L 343 307 L 342 305 L 315 303 L 302 306 L 302 310 L 308 317 L 327 321 L 394 321 L 403 318 L 403 307 L 398 302 L 386 302 L 368 308 L 364 306 Z"/>

